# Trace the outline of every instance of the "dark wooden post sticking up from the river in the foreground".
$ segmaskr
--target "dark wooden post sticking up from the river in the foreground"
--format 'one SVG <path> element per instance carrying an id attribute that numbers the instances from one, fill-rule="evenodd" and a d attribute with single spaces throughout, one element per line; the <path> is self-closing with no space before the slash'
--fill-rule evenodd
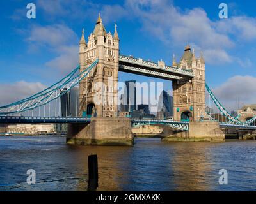
<path id="1" fill-rule="evenodd" d="M 88 156 L 88 191 L 95 191 L 98 187 L 98 157 L 97 154 Z"/>

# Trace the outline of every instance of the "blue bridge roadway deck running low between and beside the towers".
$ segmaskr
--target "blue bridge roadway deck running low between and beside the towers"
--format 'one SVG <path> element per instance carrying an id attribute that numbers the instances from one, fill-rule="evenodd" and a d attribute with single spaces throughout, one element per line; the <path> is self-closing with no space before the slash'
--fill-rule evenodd
<path id="1" fill-rule="evenodd" d="M 0 124 L 38 124 L 38 123 L 90 123 L 90 118 L 85 117 L 23 117 L 23 116 L 0 116 Z M 189 122 L 173 121 L 173 120 L 146 120 L 132 119 L 132 126 L 162 124 L 170 126 L 179 131 L 188 131 Z M 236 128 L 236 129 L 256 129 L 256 126 L 237 125 L 220 123 L 220 128 Z"/>

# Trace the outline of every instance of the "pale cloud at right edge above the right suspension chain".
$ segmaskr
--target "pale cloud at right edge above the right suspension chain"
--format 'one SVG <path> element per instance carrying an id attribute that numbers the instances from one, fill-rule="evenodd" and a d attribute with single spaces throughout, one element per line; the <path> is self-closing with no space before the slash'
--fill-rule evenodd
<path id="1" fill-rule="evenodd" d="M 225 108 L 234 110 L 237 108 L 238 99 L 240 107 L 243 104 L 256 103 L 255 84 L 256 77 L 236 75 L 212 91 Z"/>

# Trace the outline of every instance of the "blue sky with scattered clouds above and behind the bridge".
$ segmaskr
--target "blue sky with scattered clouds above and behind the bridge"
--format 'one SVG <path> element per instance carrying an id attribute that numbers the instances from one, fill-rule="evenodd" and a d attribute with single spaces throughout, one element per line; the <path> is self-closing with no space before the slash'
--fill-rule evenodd
<path id="1" fill-rule="evenodd" d="M 36 4 L 36 19 L 26 5 Z M 218 17 L 228 4 L 228 19 Z M 187 43 L 204 52 L 206 81 L 229 109 L 256 103 L 256 17 L 254 1 L 1 1 L 0 104 L 29 96 L 56 82 L 78 63 L 100 12 L 107 31 L 118 25 L 120 52 L 143 59 L 180 59 Z M 171 82 L 120 73 L 119 80 Z"/>

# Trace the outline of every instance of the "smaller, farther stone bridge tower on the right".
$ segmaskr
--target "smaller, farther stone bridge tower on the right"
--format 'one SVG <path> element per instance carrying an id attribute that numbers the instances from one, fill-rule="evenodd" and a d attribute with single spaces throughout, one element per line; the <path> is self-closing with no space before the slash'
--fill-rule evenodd
<path id="1" fill-rule="evenodd" d="M 173 117 L 174 120 L 198 121 L 205 117 L 205 61 L 201 56 L 196 59 L 195 52 L 186 46 L 180 63 L 173 66 L 190 69 L 195 74 L 191 79 L 173 81 Z"/>

